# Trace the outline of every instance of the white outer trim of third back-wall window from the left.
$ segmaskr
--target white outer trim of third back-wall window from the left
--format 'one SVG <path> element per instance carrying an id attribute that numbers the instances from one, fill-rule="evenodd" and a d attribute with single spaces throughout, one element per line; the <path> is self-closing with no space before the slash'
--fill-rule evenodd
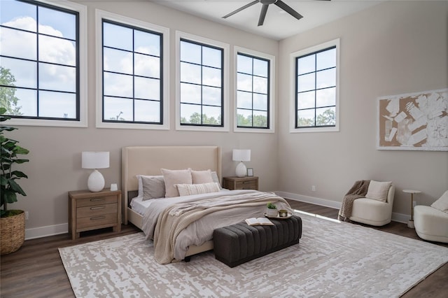
<path id="1" fill-rule="evenodd" d="M 192 41 L 202 45 L 210 45 L 211 48 L 223 50 L 223 81 L 221 88 L 223 92 L 223 105 L 221 106 L 221 126 L 213 125 L 181 125 L 181 41 Z M 176 31 L 176 130 L 206 131 L 206 132 L 229 132 L 229 51 L 230 45 L 221 41 L 214 41 L 202 36 Z"/>

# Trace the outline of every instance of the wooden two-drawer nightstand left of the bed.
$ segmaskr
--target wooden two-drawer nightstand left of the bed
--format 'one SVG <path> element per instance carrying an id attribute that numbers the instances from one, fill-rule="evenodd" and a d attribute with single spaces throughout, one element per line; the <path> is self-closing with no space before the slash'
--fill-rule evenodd
<path id="1" fill-rule="evenodd" d="M 76 190 L 69 192 L 69 234 L 79 238 L 80 232 L 113 227 L 121 231 L 121 191 L 101 192 Z"/>

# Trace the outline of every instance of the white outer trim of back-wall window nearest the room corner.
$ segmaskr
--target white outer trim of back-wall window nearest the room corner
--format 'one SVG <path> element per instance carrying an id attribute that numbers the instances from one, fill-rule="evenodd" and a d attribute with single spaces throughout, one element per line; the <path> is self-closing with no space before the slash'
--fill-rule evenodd
<path id="1" fill-rule="evenodd" d="M 248 55 L 254 58 L 259 57 L 260 59 L 265 59 L 269 61 L 269 104 L 267 107 L 267 113 L 268 113 L 268 128 L 262 128 L 262 127 L 238 127 L 238 111 L 237 111 L 237 66 L 238 66 L 238 54 L 241 53 L 242 55 Z M 259 133 L 274 133 L 275 132 L 275 56 L 269 55 L 265 52 L 258 52 L 256 50 L 250 50 L 247 48 L 241 48 L 239 46 L 234 47 L 234 69 L 235 69 L 235 80 L 234 80 L 234 116 L 233 116 L 233 130 L 234 132 L 259 132 Z"/>

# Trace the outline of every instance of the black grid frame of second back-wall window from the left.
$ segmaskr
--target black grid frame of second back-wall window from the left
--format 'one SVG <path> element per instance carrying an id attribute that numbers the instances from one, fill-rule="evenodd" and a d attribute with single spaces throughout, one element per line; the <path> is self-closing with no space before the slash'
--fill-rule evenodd
<path id="1" fill-rule="evenodd" d="M 123 50 L 123 49 L 120 49 L 120 48 L 113 48 L 113 47 L 109 47 L 109 46 L 106 46 L 106 47 L 104 46 L 104 23 L 105 22 L 109 23 L 109 24 L 116 25 L 116 26 L 132 29 L 132 51 Z M 160 57 L 158 57 L 160 59 L 160 67 L 159 67 L 160 73 L 159 73 L 159 78 L 158 78 L 158 80 L 160 81 L 159 82 L 159 84 L 160 84 L 160 100 L 158 100 L 158 102 L 160 102 L 160 111 L 159 111 L 160 121 L 159 122 L 135 121 L 134 120 L 135 119 L 135 101 L 136 100 L 155 101 L 154 99 L 140 99 L 140 98 L 136 98 L 135 97 L 135 78 L 136 77 L 155 79 L 155 78 L 152 78 L 152 77 L 149 77 L 149 76 L 148 77 L 146 77 L 146 76 L 138 76 L 138 75 L 134 74 L 134 71 L 135 71 L 134 55 L 136 53 L 135 49 L 134 49 L 134 46 L 135 46 L 134 32 L 136 30 L 160 36 L 160 49 L 159 49 Z M 163 114 L 164 114 L 164 108 L 163 108 L 163 104 L 164 104 L 164 98 L 163 98 L 163 96 L 164 96 L 164 90 L 163 90 L 163 84 L 164 84 L 164 81 L 163 81 L 163 71 L 164 71 L 164 69 L 163 69 L 163 62 L 164 62 L 163 61 L 163 59 L 164 59 L 164 55 L 163 55 L 163 50 L 164 50 L 164 48 L 163 48 L 163 38 L 164 38 L 164 36 L 163 36 L 163 34 L 161 32 L 153 31 L 153 30 L 150 30 L 150 29 L 145 29 L 145 28 L 141 28 L 141 27 L 138 27 L 138 26 L 130 25 L 130 24 L 124 24 L 124 23 L 119 22 L 119 21 L 114 21 L 114 20 L 109 20 L 109 19 L 103 18 L 102 19 L 102 36 L 101 36 L 101 38 L 102 38 L 102 57 L 101 57 L 101 59 L 102 59 L 102 122 L 104 122 L 104 123 L 135 123 L 135 124 L 144 124 L 144 125 L 163 125 L 164 121 L 165 121 L 165 119 L 163 117 Z M 125 51 L 125 52 L 131 52 L 132 53 L 132 75 L 130 75 L 128 73 L 119 73 L 119 72 L 116 72 L 116 71 L 104 71 L 104 48 L 110 48 L 110 49 L 113 49 L 113 50 L 122 50 L 122 51 Z M 144 53 L 141 53 L 141 52 L 137 52 L 137 53 L 139 55 L 146 55 L 146 56 L 150 56 L 150 57 L 157 57 L 155 55 L 144 54 Z M 119 99 L 131 99 L 130 97 L 118 97 L 118 96 L 104 94 L 104 73 L 105 72 L 106 73 L 116 73 L 116 74 L 125 75 L 125 76 L 132 76 L 132 101 L 133 101 L 132 102 L 132 119 L 133 119 L 132 121 L 130 121 L 130 120 L 106 120 L 106 119 L 104 119 L 104 97 L 113 97 L 113 98 L 119 98 Z"/>

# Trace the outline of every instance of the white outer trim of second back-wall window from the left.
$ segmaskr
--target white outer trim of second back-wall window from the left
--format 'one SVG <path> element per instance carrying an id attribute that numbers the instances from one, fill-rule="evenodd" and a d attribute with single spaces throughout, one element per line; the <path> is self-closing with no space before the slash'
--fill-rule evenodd
<path id="1" fill-rule="evenodd" d="M 103 20 L 113 24 L 123 24 L 154 31 L 162 35 L 161 55 L 162 55 L 162 97 L 160 98 L 162 109 L 162 124 L 142 123 L 142 122 L 104 122 L 103 121 Z M 97 99 L 96 99 L 96 127 L 114 129 L 169 129 L 169 29 L 156 24 L 135 20 L 123 15 L 109 13 L 104 10 L 95 9 L 95 29 L 96 29 L 96 69 L 97 69 Z"/>

